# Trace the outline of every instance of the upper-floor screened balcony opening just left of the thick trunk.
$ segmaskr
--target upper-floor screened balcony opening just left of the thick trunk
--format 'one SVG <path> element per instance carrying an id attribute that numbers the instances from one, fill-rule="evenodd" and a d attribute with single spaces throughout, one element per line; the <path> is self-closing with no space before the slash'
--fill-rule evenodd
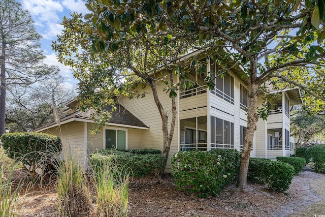
<path id="1" fill-rule="evenodd" d="M 234 77 L 225 74 L 223 78 L 215 78 L 215 88 L 211 90 L 212 94 L 234 105 Z"/>

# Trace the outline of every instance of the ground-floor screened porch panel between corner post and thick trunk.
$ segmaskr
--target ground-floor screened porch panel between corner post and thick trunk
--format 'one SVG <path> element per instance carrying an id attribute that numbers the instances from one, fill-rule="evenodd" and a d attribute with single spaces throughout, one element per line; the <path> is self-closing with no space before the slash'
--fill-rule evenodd
<path id="1" fill-rule="evenodd" d="M 211 148 L 234 147 L 234 123 L 211 116 Z"/>

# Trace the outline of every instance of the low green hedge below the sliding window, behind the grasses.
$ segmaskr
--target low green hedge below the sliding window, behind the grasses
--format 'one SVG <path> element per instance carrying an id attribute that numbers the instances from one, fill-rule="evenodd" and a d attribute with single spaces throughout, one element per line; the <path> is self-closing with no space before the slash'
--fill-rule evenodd
<path id="1" fill-rule="evenodd" d="M 153 174 L 158 175 L 164 171 L 165 157 L 161 154 L 136 154 L 119 150 L 98 150 L 90 154 L 89 162 L 92 168 L 103 168 L 109 156 L 116 156 L 116 163 L 132 170 L 133 175 L 142 177 Z"/>

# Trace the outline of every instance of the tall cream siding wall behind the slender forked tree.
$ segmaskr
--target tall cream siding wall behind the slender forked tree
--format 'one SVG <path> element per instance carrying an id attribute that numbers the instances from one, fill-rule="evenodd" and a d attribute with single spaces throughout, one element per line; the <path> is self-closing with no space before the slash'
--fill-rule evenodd
<path id="1" fill-rule="evenodd" d="M 175 81 L 177 81 L 176 77 Z M 164 91 L 164 87 L 165 84 L 161 83 L 160 85 L 157 85 L 157 90 L 160 102 L 167 111 L 167 114 L 169 114 L 168 122 L 170 123 L 172 118 L 172 103 L 171 99 L 169 98 L 169 94 L 166 94 L 166 91 Z M 163 150 L 164 138 L 163 131 L 161 129 L 162 121 L 159 111 L 154 102 L 151 89 L 147 86 L 143 91 L 148 92 L 146 97 L 131 100 L 124 98 L 120 99 L 119 103 L 149 127 L 149 130 L 143 130 L 141 133 L 139 133 L 140 141 L 138 143 L 138 148 L 155 148 Z M 177 130 L 178 121 L 176 118 L 174 137 L 171 143 L 170 154 L 166 166 L 167 172 L 170 171 L 170 157 L 178 151 Z"/>

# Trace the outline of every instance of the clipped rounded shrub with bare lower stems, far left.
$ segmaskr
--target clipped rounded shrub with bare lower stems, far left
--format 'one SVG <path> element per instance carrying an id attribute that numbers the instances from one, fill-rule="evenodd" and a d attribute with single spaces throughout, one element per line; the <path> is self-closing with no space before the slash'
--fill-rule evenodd
<path id="1" fill-rule="evenodd" d="M 59 137 L 44 133 L 6 133 L 2 135 L 1 141 L 8 150 L 8 156 L 23 163 L 31 179 L 34 179 L 36 169 L 43 167 L 62 149 Z"/>

